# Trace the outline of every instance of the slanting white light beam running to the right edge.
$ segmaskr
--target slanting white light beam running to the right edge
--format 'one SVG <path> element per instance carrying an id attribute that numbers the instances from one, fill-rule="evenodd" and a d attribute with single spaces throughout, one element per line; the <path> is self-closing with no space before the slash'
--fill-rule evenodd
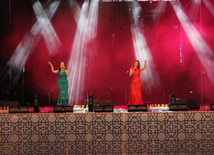
<path id="1" fill-rule="evenodd" d="M 171 2 L 171 5 L 183 26 L 183 29 L 191 42 L 201 64 L 203 65 L 210 81 L 214 85 L 214 51 L 207 45 L 197 29 L 190 22 L 179 3 Z"/>

